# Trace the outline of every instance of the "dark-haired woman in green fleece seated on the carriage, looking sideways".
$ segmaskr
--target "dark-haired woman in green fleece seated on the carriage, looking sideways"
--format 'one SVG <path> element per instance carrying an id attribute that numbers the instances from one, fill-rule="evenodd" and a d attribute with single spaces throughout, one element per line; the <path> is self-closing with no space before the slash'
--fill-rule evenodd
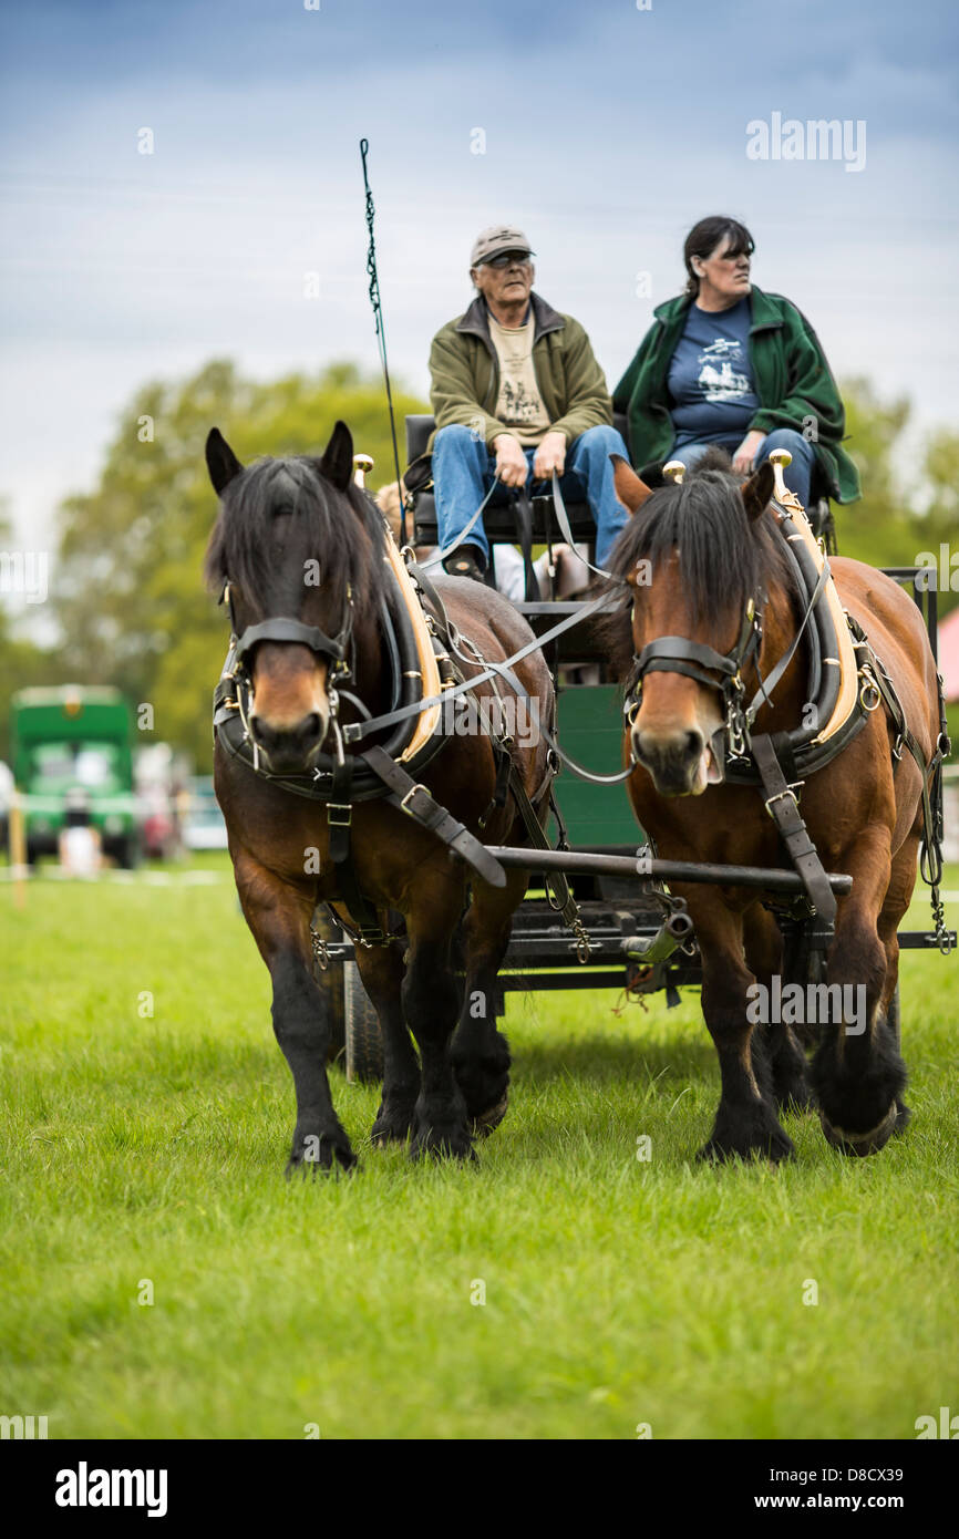
<path id="1" fill-rule="evenodd" d="M 700 219 L 687 235 L 687 291 L 654 311 L 613 392 L 630 419 L 633 462 L 693 465 L 717 443 L 748 476 L 771 449 L 788 449 L 785 482 L 804 508 L 814 471 L 820 492 L 854 502 L 859 472 L 842 448 L 830 365 L 805 315 L 750 283 L 753 249 L 734 219 Z"/>

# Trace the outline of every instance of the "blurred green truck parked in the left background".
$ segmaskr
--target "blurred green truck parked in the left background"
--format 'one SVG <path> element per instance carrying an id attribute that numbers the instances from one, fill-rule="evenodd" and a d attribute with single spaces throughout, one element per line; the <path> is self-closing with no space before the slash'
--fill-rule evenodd
<path id="1" fill-rule="evenodd" d="M 26 859 L 55 854 L 69 816 L 100 834 L 103 854 L 132 868 L 140 856 L 132 716 L 119 689 L 20 689 L 11 702 L 12 771 L 25 797 Z"/>

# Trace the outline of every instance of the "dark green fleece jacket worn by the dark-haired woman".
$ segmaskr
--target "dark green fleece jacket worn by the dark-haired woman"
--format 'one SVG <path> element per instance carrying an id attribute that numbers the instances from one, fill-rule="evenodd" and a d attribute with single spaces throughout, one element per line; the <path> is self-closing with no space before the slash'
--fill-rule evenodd
<path id="1" fill-rule="evenodd" d="M 690 305 L 690 295 L 680 294 L 653 311 L 656 320 L 613 391 L 616 411 L 625 411 L 630 419 L 630 449 L 640 468 L 665 460 L 676 440 L 667 376 Z M 842 448 L 845 409 L 816 332 L 782 294 L 753 288 L 751 311 L 750 363 L 759 411 L 750 431 L 793 428 L 802 432 L 813 419 L 817 434 L 813 446 L 830 496 L 836 502 L 856 502 L 862 489 L 859 471 Z"/>

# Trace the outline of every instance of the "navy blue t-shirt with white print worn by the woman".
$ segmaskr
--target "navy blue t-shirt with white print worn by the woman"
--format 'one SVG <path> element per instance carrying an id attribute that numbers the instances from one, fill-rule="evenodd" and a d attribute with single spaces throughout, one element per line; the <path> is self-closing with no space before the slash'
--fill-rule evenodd
<path id="1" fill-rule="evenodd" d="M 690 305 L 667 376 L 674 448 L 745 437 L 759 409 L 750 368 L 751 320 L 748 295 L 720 311 Z"/>

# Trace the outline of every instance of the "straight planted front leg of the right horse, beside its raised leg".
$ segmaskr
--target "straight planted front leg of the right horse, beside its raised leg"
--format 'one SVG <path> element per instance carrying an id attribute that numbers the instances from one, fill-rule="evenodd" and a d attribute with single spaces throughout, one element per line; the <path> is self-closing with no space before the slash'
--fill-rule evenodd
<path id="1" fill-rule="evenodd" d="M 743 960 L 742 916 L 716 896 L 685 890 L 683 896 L 702 953 L 702 1013 L 719 1054 L 722 1096 L 700 1159 L 759 1154 L 780 1160 L 794 1153 L 776 1116 L 773 1080 L 762 1036 L 760 1011 L 750 990 L 756 979 Z M 751 1008 L 753 1007 L 753 1008 Z"/>

